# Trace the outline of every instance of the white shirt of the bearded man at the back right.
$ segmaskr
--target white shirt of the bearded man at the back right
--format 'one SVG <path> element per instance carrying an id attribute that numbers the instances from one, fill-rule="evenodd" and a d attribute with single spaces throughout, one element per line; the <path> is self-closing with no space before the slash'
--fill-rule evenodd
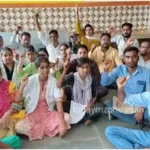
<path id="1" fill-rule="evenodd" d="M 124 47 L 126 45 L 124 37 L 122 35 L 117 35 L 117 36 L 111 38 L 111 42 L 117 44 L 119 56 L 123 58 Z M 135 42 L 133 43 L 132 46 L 139 48 L 139 42 L 137 39 L 135 39 Z"/>

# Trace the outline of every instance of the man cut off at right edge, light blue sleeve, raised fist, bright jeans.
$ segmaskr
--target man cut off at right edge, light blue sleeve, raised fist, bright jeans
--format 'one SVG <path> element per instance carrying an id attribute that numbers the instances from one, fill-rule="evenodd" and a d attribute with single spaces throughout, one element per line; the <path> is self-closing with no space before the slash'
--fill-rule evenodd
<path id="1" fill-rule="evenodd" d="M 125 97 L 124 87 L 126 83 L 126 77 L 121 77 L 117 80 L 118 99 L 131 106 L 147 108 L 150 116 L 150 91 L 140 94 L 129 94 Z M 108 140 L 118 149 L 150 148 L 150 132 L 109 126 L 106 128 L 105 134 Z"/>

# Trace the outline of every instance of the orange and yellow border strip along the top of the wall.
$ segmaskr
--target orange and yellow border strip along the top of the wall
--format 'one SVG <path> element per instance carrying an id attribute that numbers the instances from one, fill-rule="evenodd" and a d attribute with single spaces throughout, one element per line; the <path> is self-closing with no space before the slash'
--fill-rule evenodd
<path id="1" fill-rule="evenodd" d="M 16 5 L 17 4 L 17 5 Z M 119 1 L 119 2 L 0 2 L 0 8 L 22 7 L 94 7 L 94 6 L 133 6 L 150 5 L 150 1 Z"/>

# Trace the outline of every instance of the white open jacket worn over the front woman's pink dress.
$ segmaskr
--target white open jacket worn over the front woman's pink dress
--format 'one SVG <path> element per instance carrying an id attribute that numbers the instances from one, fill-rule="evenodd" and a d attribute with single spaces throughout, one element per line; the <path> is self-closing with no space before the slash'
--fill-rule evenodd
<path id="1" fill-rule="evenodd" d="M 49 75 L 46 86 L 46 101 L 50 111 L 54 109 L 55 100 L 62 97 L 61 90 L 57 88 L 56 82 L 57 80 L 52 75 Z M 39 74 L 29 77 L 28 83 L 23 91 L 23 96 L 28 102 L 26 113 L 32 113 L 37 107 L 40 96 Z"/>

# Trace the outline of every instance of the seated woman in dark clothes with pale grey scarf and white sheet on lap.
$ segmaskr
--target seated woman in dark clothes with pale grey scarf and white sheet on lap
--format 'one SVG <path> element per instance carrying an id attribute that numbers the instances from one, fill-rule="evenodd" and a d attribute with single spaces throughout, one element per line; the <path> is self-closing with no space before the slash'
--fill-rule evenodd
<path id="1" fill-rule="evenodd" d="M 88 125 L 100 116 L 103 105 L 96 103 L 97 83 L 90 74 L 90 60 L 79 58 L 77 62 L 77 72 L 66 75 L 69 65 L 66 66 L 57 81 L 57 87 L 67 85 L 71 88 L 71 106 L 68 107 L 71 124 L 84 121 L 85 125 Z"/>

